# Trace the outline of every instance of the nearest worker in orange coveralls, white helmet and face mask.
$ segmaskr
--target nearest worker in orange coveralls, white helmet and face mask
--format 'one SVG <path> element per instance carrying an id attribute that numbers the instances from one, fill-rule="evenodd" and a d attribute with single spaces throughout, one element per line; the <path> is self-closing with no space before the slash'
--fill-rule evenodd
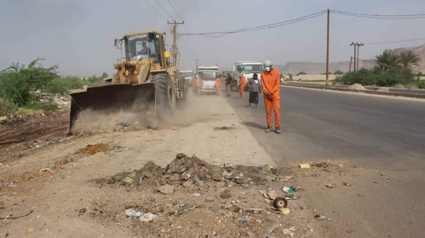
<path id="1" fill-rule="evenodd" d="M 270 132 L 270 129 L 272 128 L 273 107 L 273 112 L 275 113 L 276 133 L 280 134 L 280 74 L 272 67 L 272 62 L 270 60 L 266 60 L 264 62 L 264 67 L 265 69 L 261 73 L 261 87 L 263 88 L 264 104 L 266 107 L 266 132 Z"/>

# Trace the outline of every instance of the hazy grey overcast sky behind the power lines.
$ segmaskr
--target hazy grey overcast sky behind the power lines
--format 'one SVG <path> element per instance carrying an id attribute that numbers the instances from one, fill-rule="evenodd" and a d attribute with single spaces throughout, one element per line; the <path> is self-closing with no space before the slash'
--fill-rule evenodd
<path id="1" fill-rule="evenodd" d="M 148 0 L 167 20 L 180 20 L 168 0 Z M 189 33 L 234 30 L 295 19 L 330 8 L 382 15 L 421 14 L 424 0 L 170 0 L 185 20 Z M 170 25 L 145 0 L 0 0 L 0 69 L 12 62 L 27 64 L 37 57 L 43 65 L 59 65 L 62 75 L 100 76 L 113 73 L 119 58 L 113 40 L 127 32 L 153 29 L 167 32 Z M 370 59 L 385 48 L 409 47 L 425 40 L 425 19 L 362 19 L 331 13 L 330 60 L 349 60 L 351 41 L 361 41 L 360 58 Z M 179 26 L 179 33 L 186 33 Z M 190 41 L 191 44 L 190 44 Z M 217 63 L 231 68 L 236 60 L 274 64 L 326 60 L 326 15 L 272 29 L 237 33 L 221 38 L 180 36 L 180 70 Z M 193 46 L 193 48 L 191 47 Z"/>

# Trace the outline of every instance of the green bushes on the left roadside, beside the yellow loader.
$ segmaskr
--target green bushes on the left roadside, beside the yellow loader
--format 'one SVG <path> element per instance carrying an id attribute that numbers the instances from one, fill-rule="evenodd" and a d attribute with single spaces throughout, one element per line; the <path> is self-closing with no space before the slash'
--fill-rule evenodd
<path id="1" fill-rule="evenodd" d="M 46 94 L 64 96 L 70 90 L 83 88 L 84 85 L 98 85 L 102 81 L 95 75 L 87 79 L 61 77 L 57 65 L 43 67 L 41 60 L 35 59 L 28 65 L 12 63 L 1 72 L 0 117 L 9 116 L 20 108 L 21 112 L 56 110 L 56 104 L 41 100 Z"/>

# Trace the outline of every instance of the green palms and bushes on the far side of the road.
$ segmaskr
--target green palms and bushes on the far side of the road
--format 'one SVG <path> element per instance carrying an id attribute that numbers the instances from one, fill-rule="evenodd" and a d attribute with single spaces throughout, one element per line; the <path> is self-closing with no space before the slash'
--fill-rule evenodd
<path id="1" fill-rule="evenodd" d="M 422 73 L 412 69 L 421 61 L 413 51 L 407 50 L 397 55 L 393 50 L 386 49 L 373 61 L 376 63 L 374 68 L 348 72 L 338 76 L 335 81 L 346 85 L 360 83 L 368 86 L 425 88 L 425 82 L 420 80 Z"/>

